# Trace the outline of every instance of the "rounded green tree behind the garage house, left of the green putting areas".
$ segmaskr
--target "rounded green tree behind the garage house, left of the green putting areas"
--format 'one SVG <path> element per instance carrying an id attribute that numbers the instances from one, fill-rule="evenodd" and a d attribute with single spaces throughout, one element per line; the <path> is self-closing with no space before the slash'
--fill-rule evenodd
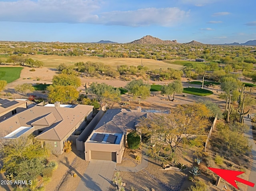
<path id="1" fill-rule="evenodd" d="M 131 93 L 134 98 L 138 99 L 138 103 L 140 104 L 142 99 L 146 99 L 150 96 L 150 85 L 144 84 L 143 80 L 132 80 L 127 85 L 129 93 Z"/>

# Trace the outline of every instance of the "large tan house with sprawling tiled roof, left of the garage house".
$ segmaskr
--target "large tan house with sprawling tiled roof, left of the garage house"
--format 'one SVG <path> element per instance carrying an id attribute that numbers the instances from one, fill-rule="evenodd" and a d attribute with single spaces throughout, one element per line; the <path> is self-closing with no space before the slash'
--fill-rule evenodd
<path id="1" fill-rule="evenodd" d="M 0 122 L 0 139 L 11 140 L 34 134 L 55 154 L 64 152 L 64 142 L 92 117 L 93 106 L 46 104 L 34 106 Z"/>

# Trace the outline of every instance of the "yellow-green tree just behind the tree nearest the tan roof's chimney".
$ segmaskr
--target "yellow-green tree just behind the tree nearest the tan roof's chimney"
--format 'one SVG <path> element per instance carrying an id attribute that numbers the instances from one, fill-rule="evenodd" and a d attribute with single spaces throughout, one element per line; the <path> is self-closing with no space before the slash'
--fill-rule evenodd
<path id="1" fill-rule="evenodd" d="M 54 75 L 52 85 L 79 87 L 81 85 L 81 80 L 74 75 L 59 74 Z"/>

